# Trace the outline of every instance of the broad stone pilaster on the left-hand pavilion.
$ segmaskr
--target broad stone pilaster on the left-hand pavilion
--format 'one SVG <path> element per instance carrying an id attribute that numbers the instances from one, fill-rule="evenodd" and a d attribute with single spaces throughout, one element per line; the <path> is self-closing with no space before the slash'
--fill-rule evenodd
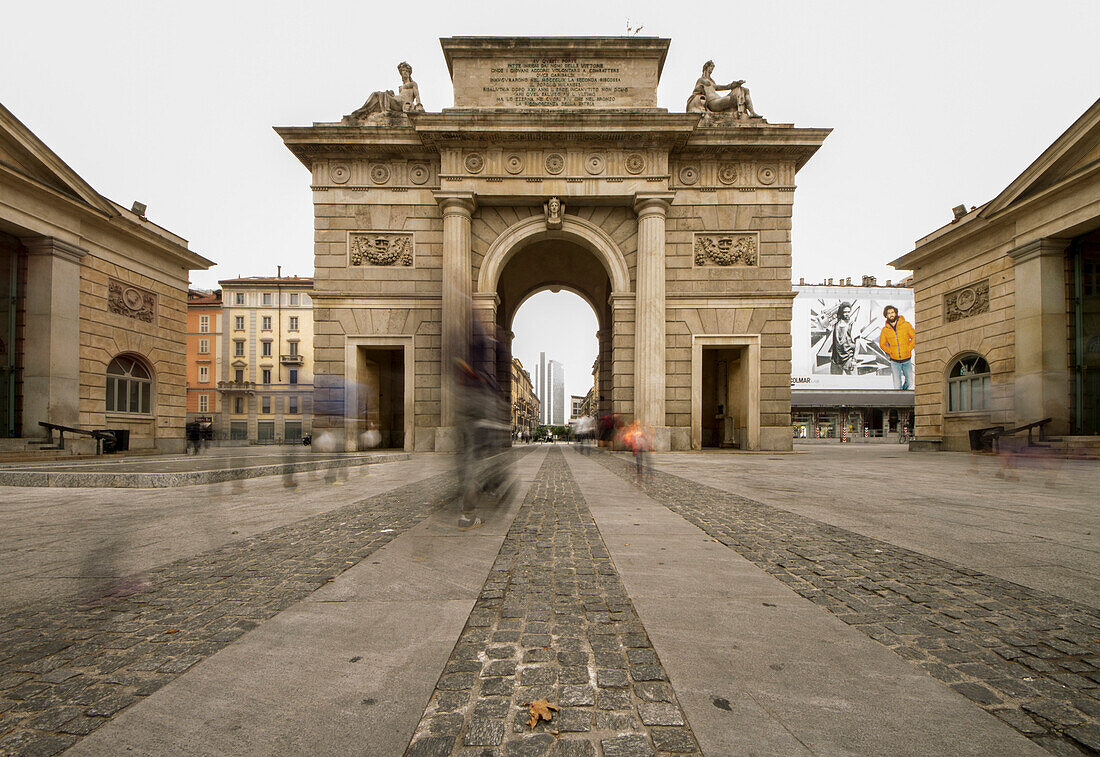
<path id="1" fill-rule="evenodd" d="M 80 260 L 87 254 L 53 237 L 30 237 L 23 353 L 23 436 L 45 436 L 38 421 L 80 419 Z M 105 377 L 106 381 L 106 377 Z"/>

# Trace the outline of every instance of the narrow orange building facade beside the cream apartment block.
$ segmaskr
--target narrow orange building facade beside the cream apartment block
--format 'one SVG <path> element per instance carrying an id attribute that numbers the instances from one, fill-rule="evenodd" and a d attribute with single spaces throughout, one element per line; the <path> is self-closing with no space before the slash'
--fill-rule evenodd
<path id="1" fill-rule="evenodd" d="M 221 290 L 187 292 L 187 423 L 212 432 L 220 412 Z"/>

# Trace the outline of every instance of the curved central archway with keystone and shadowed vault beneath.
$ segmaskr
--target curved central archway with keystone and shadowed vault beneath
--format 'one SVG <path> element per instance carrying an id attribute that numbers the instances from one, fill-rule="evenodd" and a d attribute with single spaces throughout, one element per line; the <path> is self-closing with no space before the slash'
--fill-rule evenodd
<path id="1" fill-rule="evenodd" d="M 541 215 L 521 219 L 486 250 L 474 304 L 483 321 L 495 323 L 502 337 L 496 355 L 501 386 L 509 387 L 510 383 L 516 311 L 530 296 L 546 289 L 573 292 L 592 306 L 598 323 L 598 412 L 629 413 L 634 333 L 622 326 L 634 321 L 629 266 L 606 231 L 576 216 L 565 216 L 561 229 L 548 229 Z M 510 392 L 507 399 L 512 402 Z"/>

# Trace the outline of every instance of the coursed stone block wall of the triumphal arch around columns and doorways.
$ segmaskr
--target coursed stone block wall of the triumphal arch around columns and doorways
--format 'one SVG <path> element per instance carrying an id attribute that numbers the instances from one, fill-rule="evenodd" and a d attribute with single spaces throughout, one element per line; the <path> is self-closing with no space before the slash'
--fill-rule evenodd
<path id="1" fill-rule="evenodd" d="M 499 157 L 493 151 L 486 155 L 491 162 Z M 463 171 L 460 158 L 460 152 L 444 151 L 444 178 Z M 537 163 L 528 158 L 528 163 Z M 662 168 L 668 166 L 672 179 L 666 186 L 675 195 L 666 219 L 666 424 L 673 431 L 675 447 L 690 446 L 694 334 L 760 334 L 761 445 L 772 449 L 789 447 L 794 163 L 737 162 L 730 179 L 730 163 L 713 155 L 670 160 L 662 154 L 647 160 Z M 421 174 L 414 173 L 418 165 Z M 719 176 L 723 171 L 726 173 Z M 327 425 L 336 430 L 343 423 L 345 337 L 413 334 L 415 447 L 433 449 L 441 394 L 443 221 L 432 195 L 439 174 L 438 162 L 416 156 L 322 160 L 314 164 L 318 431 Z M 415 175 L 420 184 L 414 184 Z M 376 180 L 383 176 L 384 182 Z M 565 210 L 601 228 L 626 261 L 631 292 L 613 297 L 608 309 L 613 336 L 607 340 L 609 370 L 606 382 L 602 381 L 602 392 L 609 393 L 614 412 L 629 417 L 635 410 L 634 293 L 638 255 L 638 218 L 630 202 L 637 187 L 627 193 L 622 188 L 625 185 L 601 182 L 586 178 L 583 186 L 585 191 L 602 195 L 603 202 L 587 198 L 581 204 L 566 196 Z M 513 197 L 513 202 L 483 202 L 473 212 L 473 292 L 477 290 L 485 255 L 496 240 L 513 224 L 542 213 L 544 197 L 540 188 L 522 186 L 524 194 Z M 644 188 L 652 191 L 656 187 L 645 184 Z M 620 196 L 619 191 L 626 194 Z M 413 233 L 413 265 L 351 265 L 349 234 L 359 231 Z M 755 264 L 696 264 L 696 232 L 751 234 L 756 242 Z"/>

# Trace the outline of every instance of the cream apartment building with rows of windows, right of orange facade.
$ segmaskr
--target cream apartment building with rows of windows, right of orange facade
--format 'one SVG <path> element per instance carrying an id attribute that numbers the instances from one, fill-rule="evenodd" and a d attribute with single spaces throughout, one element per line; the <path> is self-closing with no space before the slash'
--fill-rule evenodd
<path id="1" fill-rule="evenodd" d="M 227 443 L 296 443 L 312 432 L 312 278 L 248 276 L 222 290 L 221 413 Z"/>

